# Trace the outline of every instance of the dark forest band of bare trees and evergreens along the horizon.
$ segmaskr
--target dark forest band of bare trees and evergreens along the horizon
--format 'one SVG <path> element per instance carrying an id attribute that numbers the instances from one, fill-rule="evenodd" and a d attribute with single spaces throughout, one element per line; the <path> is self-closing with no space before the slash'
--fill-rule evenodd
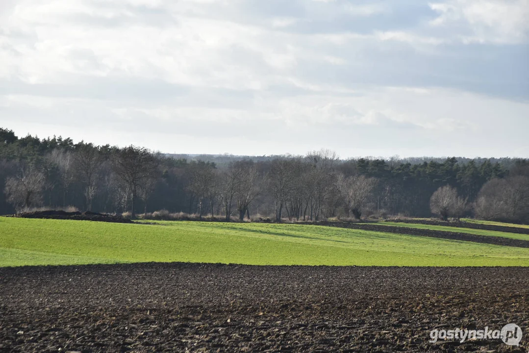
<path id="1" fill-rule="evenodd" d="M 0 214 L 38 207 L 225 220 L 474 216 L 529 223 L 529 160 L 165 155 L 0 128 Z"/>

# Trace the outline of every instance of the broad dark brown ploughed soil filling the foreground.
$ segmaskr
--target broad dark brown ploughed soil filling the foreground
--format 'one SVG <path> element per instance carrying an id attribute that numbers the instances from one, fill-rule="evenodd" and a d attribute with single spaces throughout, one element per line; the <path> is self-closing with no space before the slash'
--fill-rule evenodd
<path id="1" fill-rule="evenodd" d="M 130 264 L 0 269 L 0 352 L 526 352 L 529 268 Z M 500 340 L 429 343 L 432 329 Z"/>

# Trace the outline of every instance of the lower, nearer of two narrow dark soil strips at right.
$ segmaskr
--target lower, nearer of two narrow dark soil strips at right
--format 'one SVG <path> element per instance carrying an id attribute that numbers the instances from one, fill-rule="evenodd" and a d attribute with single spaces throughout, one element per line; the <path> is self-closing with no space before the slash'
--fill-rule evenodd
<path id="1" fill-rule="evenodd" d="M 411 228 L 411 227 L 404 227 L 404 226 L 400 227 L 400 226 L 393 226 L 393 225 L 369 224 L 369 223 L 358 223 L 358 222 L 321 221 L 321 222 L 316 222 L 316 223 L 313 222 L 313 223 L 305 223 L 305 224 L 325 225 L 327 227 L 339 227 L 339 228 L 349 228 L 349 229 L 362 229 L 362 230 L 369 230 L 369 231 L 375 231 L 375 232 L 409 234 L 412 236 L 421 236 L 421 237 L 473 241 L 473 242 L 478 242 L 478 243 L 504 245 L 504 246 L 510 246 L 510 247 L 518 247 L 518 248 L 529 248 L 529 240 L 510 239 L 510 238 L 492 237 L 492 236 L 478 236 L 476 234 L 450 232 L 450 231 L 444 231 L 444 230 L 421 229 L 421 228 Z"/>

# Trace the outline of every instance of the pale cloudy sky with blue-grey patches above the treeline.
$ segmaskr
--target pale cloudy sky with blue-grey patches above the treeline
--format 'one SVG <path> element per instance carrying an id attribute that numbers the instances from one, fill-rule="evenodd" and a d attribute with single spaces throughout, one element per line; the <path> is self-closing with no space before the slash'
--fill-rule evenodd
<path id="1" fill-rule="evenodd" d="M 529 0 L 1 0 L 0 126 L 167 153 L 529 157 Z"/>

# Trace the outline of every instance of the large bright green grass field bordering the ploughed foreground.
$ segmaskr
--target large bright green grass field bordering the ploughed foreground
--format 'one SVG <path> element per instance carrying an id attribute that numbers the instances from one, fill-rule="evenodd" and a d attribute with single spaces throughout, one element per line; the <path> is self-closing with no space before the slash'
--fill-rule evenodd
<path id="1" fill-rule="evenodd" d="M 188 261 L 249 265 L 529 266 L 529 249 L 299 224 L 120 224 L 0 217 L 0 266 Z"/>

